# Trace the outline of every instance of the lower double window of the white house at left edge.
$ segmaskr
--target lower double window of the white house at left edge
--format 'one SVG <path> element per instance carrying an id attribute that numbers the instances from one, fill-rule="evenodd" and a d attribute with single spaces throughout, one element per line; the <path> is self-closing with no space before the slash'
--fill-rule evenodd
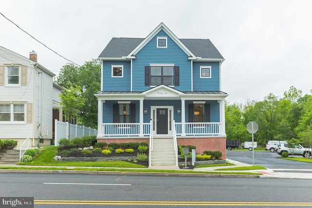
<path id="1" fill-rule="evenodd" d="M 25 105 L 0 104 L 0 121 L 25 121 Z"/>

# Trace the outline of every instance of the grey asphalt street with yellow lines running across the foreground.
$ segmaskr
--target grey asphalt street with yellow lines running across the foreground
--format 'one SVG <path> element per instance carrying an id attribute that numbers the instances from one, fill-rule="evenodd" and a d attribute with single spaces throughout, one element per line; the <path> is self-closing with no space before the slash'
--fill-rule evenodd
<path id="1" fill-rule="evenodd" d="M 312 206 L 309 179 L 1 173 L 0 187 L 35 208 Z"/>

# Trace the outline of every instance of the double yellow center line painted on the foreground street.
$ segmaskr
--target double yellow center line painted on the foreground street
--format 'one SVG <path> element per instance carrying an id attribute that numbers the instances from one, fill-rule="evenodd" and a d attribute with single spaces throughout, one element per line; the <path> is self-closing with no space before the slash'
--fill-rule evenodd
<path id="1" fill-rule="evenodd" d="M 310 202 L 166 202 L 166 201 L 75 201 L 75 200 L 34 200 L 34 204 L 66 205 L 177 205 L 177 206 L 302 206 L 312 207 Z"/>

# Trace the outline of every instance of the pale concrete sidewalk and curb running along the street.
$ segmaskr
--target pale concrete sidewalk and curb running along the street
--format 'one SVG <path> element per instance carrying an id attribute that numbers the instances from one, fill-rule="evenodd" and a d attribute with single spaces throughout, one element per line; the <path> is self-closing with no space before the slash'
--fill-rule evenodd
<path id="1" fill-rule="evenodd" d="M 235 166 L 217 166 L 217 167 L 206 167 L 206 168 L 195 168 L 195 169 L 180 169 L 178 166 L 152 166 L 149 170 L 189 170 L 185 173 L 171 173 L 171 172 L 126 172 L 126 171 L 90 171 L 90 170 L 70 170 L 74 168 L 101 168 L 101 169 L 112 169 L 104 167 L 66 167 L 66 166 L 20 166 L 15 164 L 0 164 L 1 167 L 45 167 L 45 168 L 67 168 L 69 170 L 8 170 L 1 169 L 0 172 L 27 172 L 27 173 L 80 173 L 80 174 L 144 174 L 144 175 L 188 175 L 188 176 L 206 176 L 206 177 L 259 177 L 259 178 L 301 178 L 301 179 L 312 179 L 312 173 L 293 173 L 293 172 L 274 172 L 273 170 L 222 170 L 222 172 L 237 172 L 237 174 L 218 174 L 223 168 L 231 167 L 244 167 L 251 166 L 246 163 L 241 163 L 231 159 L 227 159 L 229 163 L 233 163 Z M 127 169 L 127 168 L 114 168 L 114 169 Z M 134 168 L 131 168 L 134 169 Z M 141 169 L 138 169 L 141 170 Z M 192 173 L 192 171 L 208 171 L 212 173 Z M 214 174 L 213 172 L 216 172 Z M 254 172 L 261 173 L 262 175 L 242 175 L 239 172 Z"/>

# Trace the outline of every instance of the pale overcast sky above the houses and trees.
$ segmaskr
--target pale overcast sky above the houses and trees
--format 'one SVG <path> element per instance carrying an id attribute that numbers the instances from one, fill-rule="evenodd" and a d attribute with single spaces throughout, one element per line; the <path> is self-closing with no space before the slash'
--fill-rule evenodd
<path id="1" fill-rule="evenodd" d="M 163 22 L 178 38 L 209 38 L 225 61 L 230 103 L 312 89 L 312 0 L 5 0 L 0 12 L 82 65 L 113 37 L 146 38 Z M 0 16 L 0 46 L 59 73 L 68 63 Z"/>

